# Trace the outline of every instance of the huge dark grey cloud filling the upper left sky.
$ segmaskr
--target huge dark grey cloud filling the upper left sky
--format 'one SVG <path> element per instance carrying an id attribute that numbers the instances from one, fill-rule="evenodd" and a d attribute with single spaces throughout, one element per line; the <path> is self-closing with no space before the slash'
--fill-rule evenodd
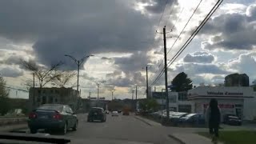
<path id="1" fill-rule="evenodd" d="M 64 54 L 82 58 L 154 47 L 154 18 L 126 1 L 1 1 L 0 36 L 34 43 L 36 57 L 43 64 L 62 60 L 75 68 Z"/>

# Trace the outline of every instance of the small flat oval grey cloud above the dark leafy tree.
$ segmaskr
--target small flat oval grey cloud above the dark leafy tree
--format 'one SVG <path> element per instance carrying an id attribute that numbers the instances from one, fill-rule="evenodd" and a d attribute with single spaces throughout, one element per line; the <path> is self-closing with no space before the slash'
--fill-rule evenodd
<path id="1" fill-rule="evenodd" d="M 207 52 L 198 51 L 194 54 L 186 54 L 184 62 L 211 63 L 214 62 L 214 55 Z"/>

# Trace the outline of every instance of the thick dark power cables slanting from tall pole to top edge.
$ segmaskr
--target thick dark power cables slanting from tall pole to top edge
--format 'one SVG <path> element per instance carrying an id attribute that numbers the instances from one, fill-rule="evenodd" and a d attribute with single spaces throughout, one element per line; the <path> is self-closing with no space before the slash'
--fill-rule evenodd
<path id="1" fill-rule="evenodd" d="M 218 9 L 218 6 L 221 5 L 221 3 L 223 2 L 223 0 L 219 0 L 214 7 L 210 10 L 210 12 L 206 15 L 206 18 L 204 18 L 204 20 L 200 23 L 200 25 L 197 27 L 196 30 L 194 30 L 194 33 L 190 35 L 190 38 L 188 38 L 188 40 L 184 43 L 184 45 L 182 46 L 182 48 L 180 50 L 178 50 L 178 52 L 174 55 L 174 57 L 170 60 L 170 62 L 168 63 L 168 67 L 170 67 L 171 64 L 173 64 L 173 62 L 178 58 L 178 56 L 182 53 L 183 50 L 186 49 L 186 46 L 188 46 L 190 44 L 190 42 L 193 40 L 193 38 L 196 36 L 196 34 L 198 34 L 198 32 L 202 29 L 202 26 L 204 26 L 206 24 L 206 22 L 209 20 L 209 18 L 211 17 L 212 14 L 214 14 L 215 10 Z M 162 76 L 164 69 L 162 69 L 161 73 L 158 75 L 158 77 L 154 80 L 154 82 L 151 84 L 151 86 L 153 86 L 155 84 L 155 82 L 158 81 L 158 79 Z"/>

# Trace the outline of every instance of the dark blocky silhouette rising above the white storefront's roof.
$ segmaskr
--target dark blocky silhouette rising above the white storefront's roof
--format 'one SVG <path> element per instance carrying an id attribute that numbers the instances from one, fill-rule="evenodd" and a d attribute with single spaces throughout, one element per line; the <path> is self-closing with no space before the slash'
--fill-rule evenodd
<path id="1" fill-rule="evenodd" d="M 225 86 L 249 86 L 247 74 L 230 74 L 225 77 Z"/>

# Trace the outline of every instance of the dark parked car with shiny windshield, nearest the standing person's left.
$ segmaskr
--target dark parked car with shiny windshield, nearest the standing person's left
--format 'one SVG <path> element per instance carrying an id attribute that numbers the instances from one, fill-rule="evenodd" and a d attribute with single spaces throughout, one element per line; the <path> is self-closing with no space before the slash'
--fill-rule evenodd
<path id="1" fill-rule="evenodd" d="M 205 126 L 206 120 L 203 114 L 187 114 L 179 118 L 178 124 L 180 126 Z"/>

